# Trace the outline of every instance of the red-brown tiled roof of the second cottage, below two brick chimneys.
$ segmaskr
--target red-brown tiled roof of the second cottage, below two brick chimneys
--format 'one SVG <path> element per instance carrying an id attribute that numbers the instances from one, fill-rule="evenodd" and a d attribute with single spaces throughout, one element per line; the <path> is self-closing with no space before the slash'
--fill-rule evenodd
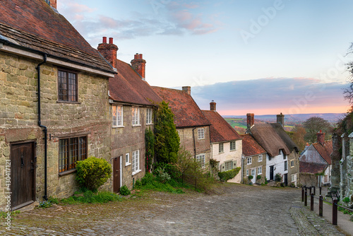
<path id="1" fill-rule="evenodd" d="M 109 78 L 109 94 L 112 100 L 139 105 L 162 102 L 162 98 L 142 80 L 130 64 L 116 60 L 116 69 L 118 73 L 114 78 Z"/>

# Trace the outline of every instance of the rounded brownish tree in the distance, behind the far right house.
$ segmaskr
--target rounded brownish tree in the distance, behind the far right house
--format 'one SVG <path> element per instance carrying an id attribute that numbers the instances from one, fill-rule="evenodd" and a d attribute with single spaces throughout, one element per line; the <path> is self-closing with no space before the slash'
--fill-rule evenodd
<path id="1" fill-rule="evenodd" d="M 304 140 L 309 143 L 316 143 L 316 134 L 318 131 L 323 131 L 328 134 L 332 128 L 331 124 L 321 117 L 310 117 L 306 119 L 303 126 L 306 131 Z"/>

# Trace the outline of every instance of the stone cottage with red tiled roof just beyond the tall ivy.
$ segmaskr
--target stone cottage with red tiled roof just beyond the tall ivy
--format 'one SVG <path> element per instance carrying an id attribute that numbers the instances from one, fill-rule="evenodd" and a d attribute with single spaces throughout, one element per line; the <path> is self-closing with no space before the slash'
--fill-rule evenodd
<path id="1" fill-rule="evenodd" d="M 174 114 L 180 146 L 204 166 L 210 161 L 210 122 L 191 97 L 191 88 L 182 90 L 152 87 Z"/>

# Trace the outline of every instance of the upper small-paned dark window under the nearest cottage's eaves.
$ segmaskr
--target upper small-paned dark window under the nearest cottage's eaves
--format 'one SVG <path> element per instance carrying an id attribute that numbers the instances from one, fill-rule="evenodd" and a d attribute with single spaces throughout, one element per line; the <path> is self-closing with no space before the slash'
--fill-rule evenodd
<path id="1" fill-rule="evenodd" d="M 76 73 L 58 70 L 58 100 L 77 102 Z"/>

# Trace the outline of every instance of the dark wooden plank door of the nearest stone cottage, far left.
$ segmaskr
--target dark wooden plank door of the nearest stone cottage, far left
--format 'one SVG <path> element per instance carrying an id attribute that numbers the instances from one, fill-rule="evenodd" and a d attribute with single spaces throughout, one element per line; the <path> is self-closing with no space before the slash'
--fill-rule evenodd
<path id="1" fill-rule="evenodd" d="M 11 145 L 11 210 L 35 201 L 35 143 Z"/>

